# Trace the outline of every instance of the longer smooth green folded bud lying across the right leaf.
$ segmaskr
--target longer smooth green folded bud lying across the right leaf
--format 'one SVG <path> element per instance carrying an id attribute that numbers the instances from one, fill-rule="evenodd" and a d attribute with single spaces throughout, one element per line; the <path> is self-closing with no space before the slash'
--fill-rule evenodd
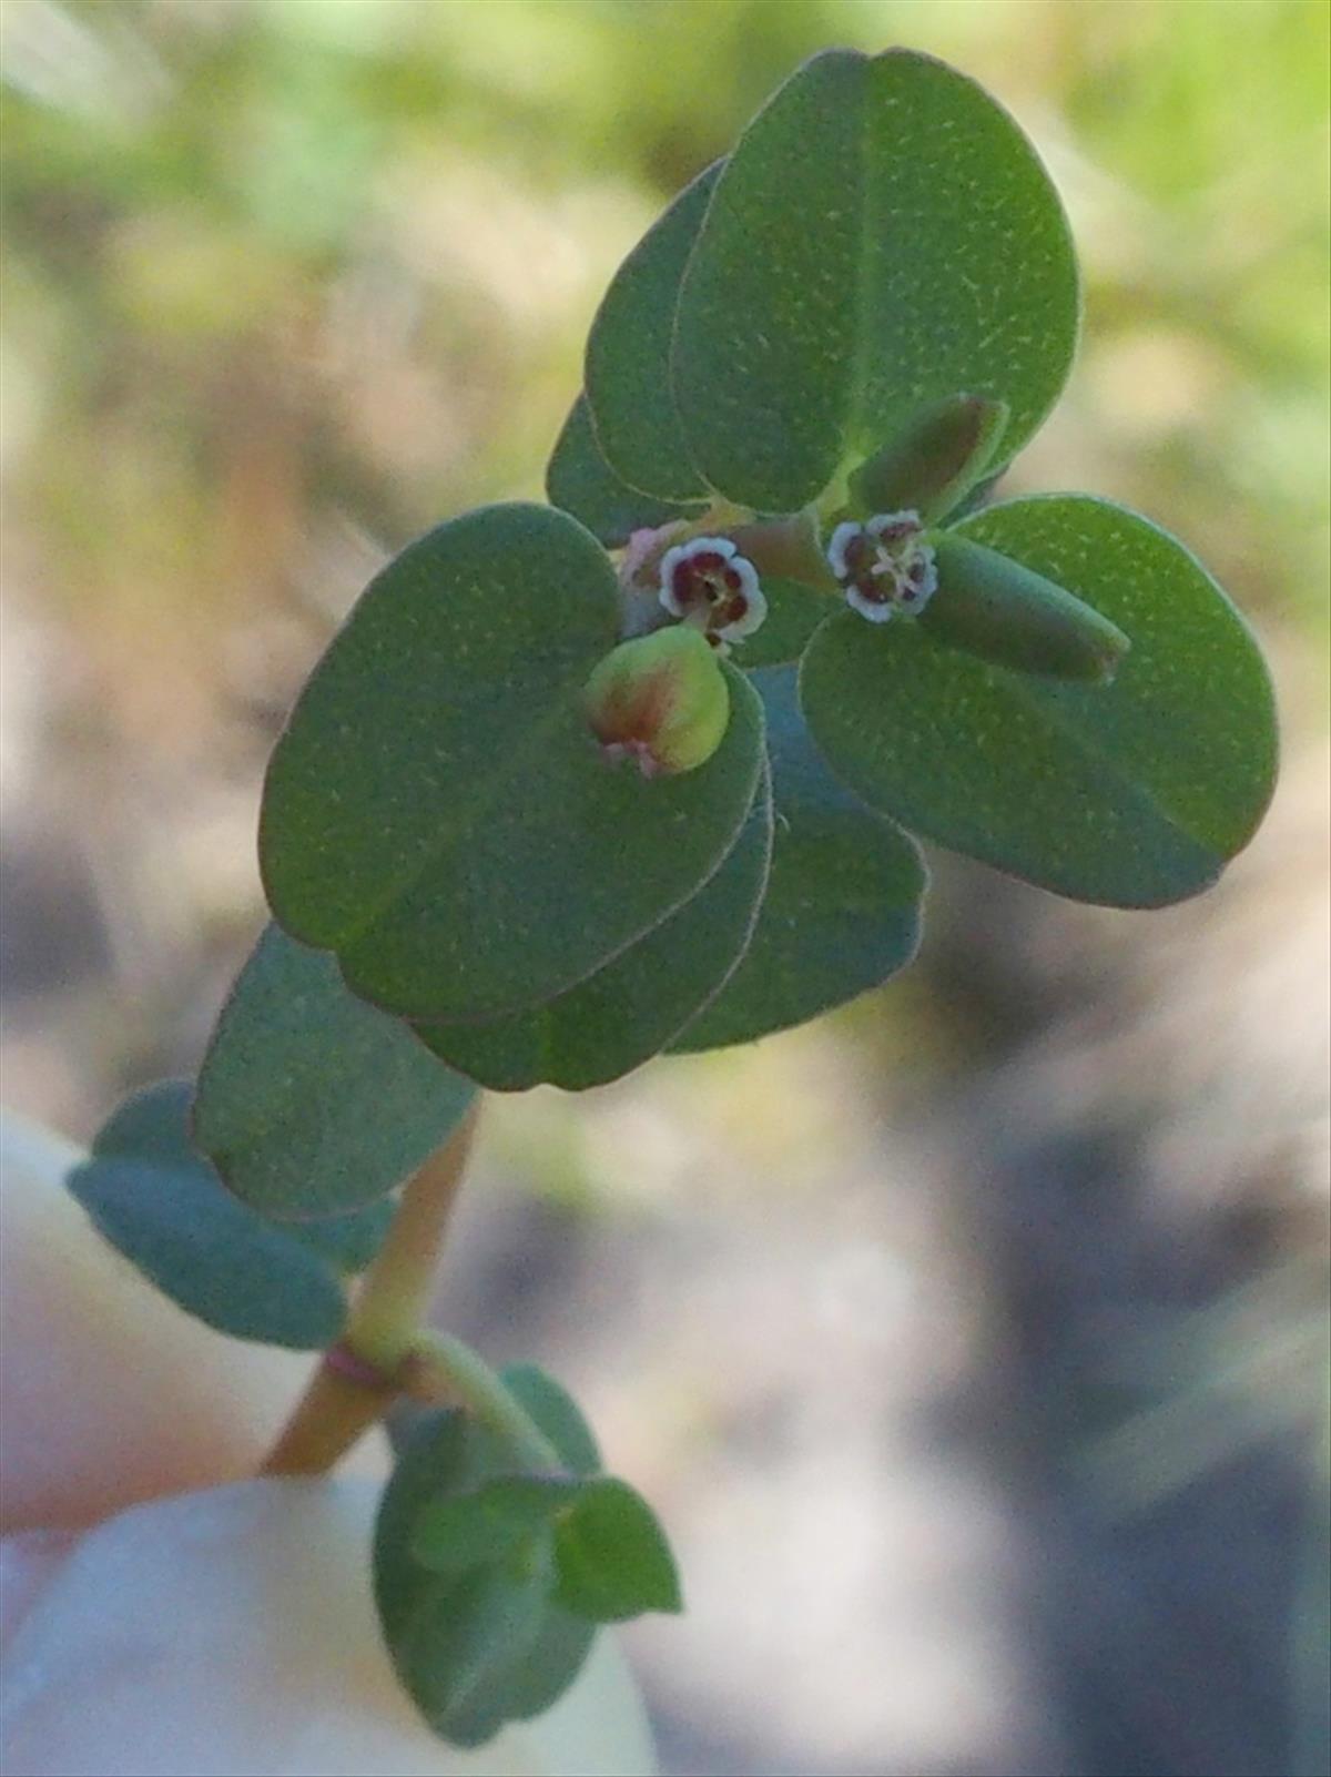
<path id="1" fill-rule="evenodd" d="M 938 590 L 919 624 L 936 641 L 995 666 L 1107 681 L 1132 643 L 1043 574 L 967 537 L 933 537 Z"/>

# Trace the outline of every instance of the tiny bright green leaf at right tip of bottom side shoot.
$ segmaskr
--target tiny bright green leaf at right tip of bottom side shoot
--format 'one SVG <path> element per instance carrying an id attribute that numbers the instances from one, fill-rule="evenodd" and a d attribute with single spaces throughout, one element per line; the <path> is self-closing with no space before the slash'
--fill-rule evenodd
<path id="1" fill-rule="evenodd" d="M 556 1599 L 592 1622 L 684 1608 L 670 1544 L 650 1505 L 610 1475 L 583 1482 L 554 1532 Z"/>

